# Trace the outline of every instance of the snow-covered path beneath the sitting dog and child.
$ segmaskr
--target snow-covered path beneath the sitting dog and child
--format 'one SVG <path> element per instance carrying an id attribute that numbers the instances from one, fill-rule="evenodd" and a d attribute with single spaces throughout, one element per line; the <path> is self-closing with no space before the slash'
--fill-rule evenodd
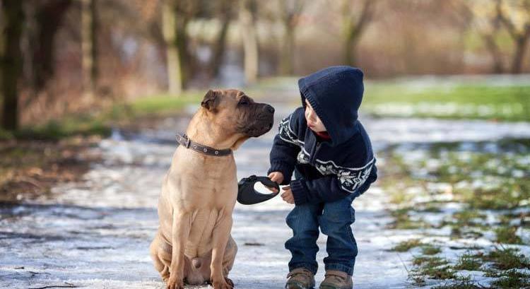
<path id="1" fill-rule="evenodd" d="M 276 122 L 292 111 L 298 93 L 276 93 Z M 451 122 L 418 119 L 365 119 L 377 150 L 390 143 L 456 141 L 467 138 L 529 137 L 529 124 Z M 148 245 L 158 226 L 156 204 L 163 174 L 175 150 L 173 136 L 187 118 L 168 119 L 154 131 L 124 139 L 119 134 L 100 143 L 103 163 L 86 182 L 62 184 L 53 199 L 37 204 L 0 205 L 0 288 L 76 285 L 85 288 L 165 288 L 153 269 Z M 277 124 L 276 126 L 277 127 Z M 453 134 L 447 131 L 458 127 Z M 483 134 L 476 134 L 482 131 Z M 487 134 L 486 134 L 487 133 Z M 264 175 L 276 129 L 245 143 L 235 153 L 237 175 Z M 450 136 L 450 137 L 449 137 Z M 386 230 L 391 218 L 377 186 L 353 203 L 358 240 L 355 288 L 407 288 L 410 255 L 387 252 L 411 236 Z M 230 277 L 237 288 L 283 288 L 290 254 L 283 243 L 290 205 L 273 199 L 257 206 L 237 205 L 232 235 L 239 252 Z M 325 237 L 319 239 L 324 268 Z M 403 261 L 401 261 L 403 259 Z M 323 270 L 317 275 L 322 281 Z"/>

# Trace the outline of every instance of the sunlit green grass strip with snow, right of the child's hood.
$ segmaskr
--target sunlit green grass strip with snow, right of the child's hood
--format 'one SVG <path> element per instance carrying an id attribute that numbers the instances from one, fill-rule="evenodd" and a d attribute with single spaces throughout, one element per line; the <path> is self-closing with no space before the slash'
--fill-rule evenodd
<path id="1" fill-rule="evenodd" d="M 530 121 L 530 85 L 368 81 L 361 110 L 378 116 Z"/>

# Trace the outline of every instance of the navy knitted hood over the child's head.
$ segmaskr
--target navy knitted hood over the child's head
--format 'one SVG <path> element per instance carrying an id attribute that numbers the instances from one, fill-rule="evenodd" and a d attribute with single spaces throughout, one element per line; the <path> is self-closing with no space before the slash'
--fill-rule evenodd
<path id="1" fill-rule="evenodd" d="M 363 71 L 351 66 L 331 66 L 298 80 L 302 106 L 305 100 L 322 120 L 337 146 L 357 134 L 358 110 L 363 100 Z"/>

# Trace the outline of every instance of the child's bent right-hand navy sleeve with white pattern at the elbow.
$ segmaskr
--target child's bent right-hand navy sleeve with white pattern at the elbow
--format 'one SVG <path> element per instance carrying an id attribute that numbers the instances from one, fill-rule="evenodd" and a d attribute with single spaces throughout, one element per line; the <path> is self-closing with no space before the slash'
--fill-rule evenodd
<path id="1" fill-rule="evenodd" d="M 363 194 L 377 179 L 375 158 L 365 167 L 348 169 L 341 167 L 336 175 L 319 179 L 295 179 L 290 182 L 296 205 L 332 202 L 351 194 Z"/>

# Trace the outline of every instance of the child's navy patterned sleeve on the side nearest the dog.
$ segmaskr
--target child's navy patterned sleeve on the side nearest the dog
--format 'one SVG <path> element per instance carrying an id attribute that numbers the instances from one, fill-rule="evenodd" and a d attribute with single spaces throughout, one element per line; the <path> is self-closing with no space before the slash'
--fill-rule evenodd
<path id="1" fill-rule="evenodd" d="M 295 170 L 296 157 L 300 152 L 298 136 L 295 134 L 295 131 L 298 131 L 297 112 L 298 110 L 281 121 L 269 155 L 271 167 L 267 175 L 271 172 L 281 172 L 283 174 L 281 184 L 289 184 Z"/>

